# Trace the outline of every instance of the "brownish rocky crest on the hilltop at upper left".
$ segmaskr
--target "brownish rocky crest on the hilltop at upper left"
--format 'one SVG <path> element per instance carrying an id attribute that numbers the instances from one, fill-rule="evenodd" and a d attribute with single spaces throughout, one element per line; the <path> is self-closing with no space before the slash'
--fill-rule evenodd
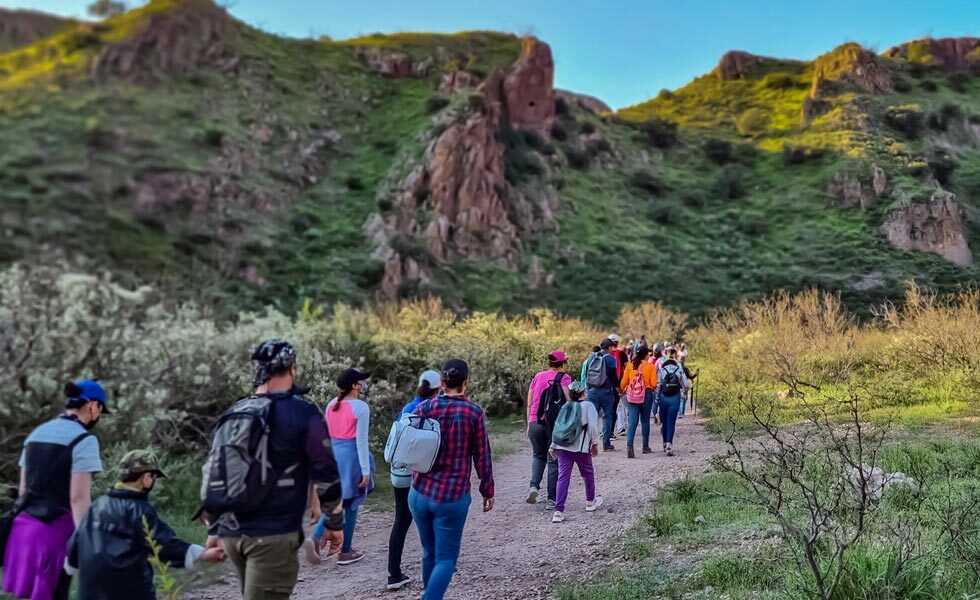
<path id="1" fill-rule="evenodd" d="M 212 65 L 232 70 L 238 56 L 228 43 L 233 19 L 210 0 L 184 0 L 147 17 L 135 34 L 102 48 L 93 75 L 152 80 L 161 72 Z"/>

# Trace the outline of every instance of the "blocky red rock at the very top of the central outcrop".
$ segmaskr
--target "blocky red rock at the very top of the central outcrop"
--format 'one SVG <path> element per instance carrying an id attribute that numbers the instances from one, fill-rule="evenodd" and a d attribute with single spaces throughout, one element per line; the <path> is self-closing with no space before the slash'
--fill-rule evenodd
<path id="1" fill-rule="evenodd" d="M 521 57 L 502 81 L 500 99 L 513 129 L 548 137 L 555 120 L 555 61 L 551 47 L 533 38 L 521 42 Z M 494 94 L 488 88 L 488 92 Z"/>

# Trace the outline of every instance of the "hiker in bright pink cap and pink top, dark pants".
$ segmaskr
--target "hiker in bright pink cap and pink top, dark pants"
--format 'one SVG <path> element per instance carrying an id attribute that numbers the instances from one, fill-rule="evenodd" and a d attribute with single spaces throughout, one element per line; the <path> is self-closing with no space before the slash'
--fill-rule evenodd
<path id="1" fill-rule="evenodd" d="M 545 465 L 548 467 L 548 500 L 546 510 L 555 510 L 555 489 L 558 485 L 558 462 L 550 452 L 551 428 L 558 409 L 568 400 L 568 386 L 572 383 L 571 375 L 565 373 L 568 356 L 561 350 L 555 350 L 548 355 L 548 369 L 541 371 L 531 379 L 527 390 L 527 438 L 531 440 L 531 487 L 525 501 L 536 504 L 538 490 L 541 488 L 541 478 Z M 546 407 L 552 409 L 551 419 L 547 418 Z"/>

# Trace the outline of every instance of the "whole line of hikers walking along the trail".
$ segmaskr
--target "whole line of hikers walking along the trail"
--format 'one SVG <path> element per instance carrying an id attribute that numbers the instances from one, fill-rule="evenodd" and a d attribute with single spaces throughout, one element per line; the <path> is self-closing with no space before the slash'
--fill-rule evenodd
<path id="1" fill-rule="evenodd" d="M 537 503 L 547 466 L 546 508 L 554 510 L 553 522 L 562 522 L 572 466 L 577 465 L 585 480 L 585 510 L 602 505 L 592 459 L 600 443 L 604 451 L 615 450 L 611 440 L 620 402 L 627 408 L 628 456 L 635 456 L 638 424 L 643 452 L 652 452 L 654 407 L 663 450 L 672 456 L 674 422 L 692 378 L 683 365 L 685 356 L 683 348 L 669 343 L 651 349 L 645 338 L 620 350 L 613 334 L 573 380 L 564 371 L 565 352 L 551 352 L 548 369 L 533 378 L 528 390 L 533 462 L 527 502 Z M 212 434 L 202 472 L 198 515 L 207 537 L 201 545 L 180 539 L 150 502 L 154 484 L 166 477 L 152 452 L 126 453 L 118 481 L 92 501 L 92 479 L 103 468 L 92 429 L 110 414 L 108 400 L 95 380 L 67 384 L 63 414 L 27 436 L 18 498 L 0 517 L 3 591 L 30 600 L 67 600 L 71 579 L 77 577 L 78 600 L 152 600 L 150 559 L 155 555 L 171 567 L 228 560 L 245 600 L 276 600 L 292 594 L 301 552 L 312 564 L 327 558 L 336 558 L 338 565 L 361 560 L 364 554 L 353 546 L 358 509 L 374 489 L 376 474 L 368 447 L 371 409 L 365 402 L 370 373 L 344 370 L 336 379 L 336 397 L 321 412 L 304 398 L 309 389 L 296 382 L 291 344 L 268 340 L 251 358 L 252 394 L 235 402 Z M 494 507 L 487 420 L 467 396 L 469 375 L 460 359 L 446 361 L 441 371 L 423 372 L 392 427 L 385 451 L 395 497 L 389 590 L 411 582 L 401 563 L 414 522 L 422 546 L 422 598 L 443 598 L 469 514 L 471 470 L 480 480 L 482 510 Z"/>

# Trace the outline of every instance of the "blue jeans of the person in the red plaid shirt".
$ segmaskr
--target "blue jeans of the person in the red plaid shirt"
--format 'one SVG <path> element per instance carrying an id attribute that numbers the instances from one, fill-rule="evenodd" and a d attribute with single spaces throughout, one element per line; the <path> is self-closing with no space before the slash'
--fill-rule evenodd
<path id="1" fill-rule="evenodd" d="M 422 600 L 442 600 L 456 572 L 463 526 L 470 509 L 470 495 L 456 502 L 435 502 L 418 493 L 408 493 L 408 507 L 422 542 Z"/>

